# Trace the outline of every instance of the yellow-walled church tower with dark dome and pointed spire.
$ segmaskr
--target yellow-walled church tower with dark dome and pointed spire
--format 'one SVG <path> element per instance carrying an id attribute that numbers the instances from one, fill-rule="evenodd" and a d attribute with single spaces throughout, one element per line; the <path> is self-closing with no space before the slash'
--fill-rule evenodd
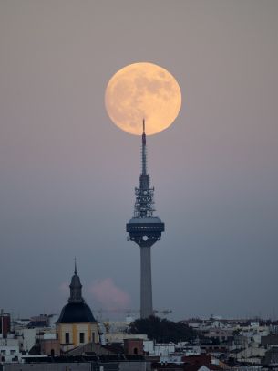
<path id="1" fill-rule="evenodd" d="M 69 285 L 70 296 L 57 320 L 57 339 L 62 351 L 68 351 L 89 342 L 99 343 L 98 323 L 82 298 L 82 285 L 77 265 Z"/>

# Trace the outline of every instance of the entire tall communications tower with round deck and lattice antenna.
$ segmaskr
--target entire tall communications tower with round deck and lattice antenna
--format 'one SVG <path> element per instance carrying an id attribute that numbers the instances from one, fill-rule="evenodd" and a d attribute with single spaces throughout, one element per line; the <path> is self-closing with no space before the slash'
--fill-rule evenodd
<path id="1" fill-rule="evenodd" d="M 152 286 L 151 286 L 151 246 L 160 240 L 164 232 L 164 223 L 160 217 L 153 216 L 154 188 L 149 186 L 147 172 L 147 146 L 145 121 L 143 120 L 142 133 L 142 170 L 139 177 L 139 188 L 135 188 L 134 216 L 127 224 L 129 240 L 135 242 L 140 248 L 140 315 L 148 318 L 153 314 Z"/>

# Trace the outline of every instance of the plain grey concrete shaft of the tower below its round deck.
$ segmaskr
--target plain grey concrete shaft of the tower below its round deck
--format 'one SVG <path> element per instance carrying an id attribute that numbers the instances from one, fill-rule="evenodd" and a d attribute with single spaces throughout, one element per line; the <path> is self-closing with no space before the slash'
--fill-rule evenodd
<path id="1" fill-rule="evenodd" d="M 148 318 L 153 314 L 152 309 L 152 286 L 151 286 L 151 257 L 150 247 L 140 247 L 141 258 L 141 297 L 140 314 L 141 318 Z"/>

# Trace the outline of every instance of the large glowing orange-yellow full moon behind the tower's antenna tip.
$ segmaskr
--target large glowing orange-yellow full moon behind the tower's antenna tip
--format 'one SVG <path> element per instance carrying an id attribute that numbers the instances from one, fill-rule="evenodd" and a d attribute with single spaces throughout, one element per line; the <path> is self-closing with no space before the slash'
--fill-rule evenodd
<path id="1" fill-rule="evenodd" d="M 151 135 L 168 128 L 179 114 L 180 86 L 167 69 L 153 63 L 132 63 L 119 69 L 105 92 L 108 116 L 130 134 Z"/>

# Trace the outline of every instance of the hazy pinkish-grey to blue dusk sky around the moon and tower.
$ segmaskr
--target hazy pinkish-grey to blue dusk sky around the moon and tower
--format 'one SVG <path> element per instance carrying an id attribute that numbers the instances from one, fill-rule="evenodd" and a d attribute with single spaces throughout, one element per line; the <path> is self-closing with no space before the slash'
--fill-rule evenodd
<path id="1" fill-rule="evenodd" d="M 140 139 L 110 122 L 104 92 L 149 61 L 183 98 L 147 141 L 166 225 L 154 307 L 278 317 L 277 17 L 277 0 L 0 1 L 1 308 L 59 313 L 75 256 L 93 311 L 139 308 L 125 224 Z"/>

